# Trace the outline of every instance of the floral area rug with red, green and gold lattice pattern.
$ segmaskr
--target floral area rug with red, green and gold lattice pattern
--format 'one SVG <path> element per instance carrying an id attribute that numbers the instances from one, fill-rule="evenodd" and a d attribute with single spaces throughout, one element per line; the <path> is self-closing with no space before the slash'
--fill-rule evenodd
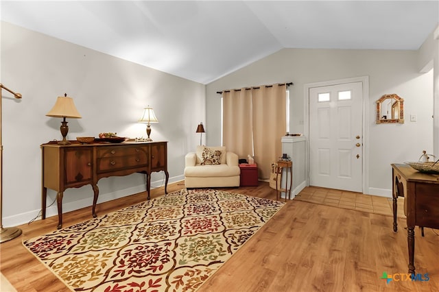
<path id="1" fill-rule="evenodd" d="M 195 291 L 283 205 L 182 189 L 23 245 L 72 291 Z"/>

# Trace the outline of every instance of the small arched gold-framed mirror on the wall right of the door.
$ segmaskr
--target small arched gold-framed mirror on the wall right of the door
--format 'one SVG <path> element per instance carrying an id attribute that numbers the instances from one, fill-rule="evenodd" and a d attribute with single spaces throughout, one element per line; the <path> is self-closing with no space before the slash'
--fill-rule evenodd
<path id="1" fill-rule="evenodd" d="M 383 95 L 376 102 L 377 123 L 404 123 L 404 99 L 392 94 Z"/>

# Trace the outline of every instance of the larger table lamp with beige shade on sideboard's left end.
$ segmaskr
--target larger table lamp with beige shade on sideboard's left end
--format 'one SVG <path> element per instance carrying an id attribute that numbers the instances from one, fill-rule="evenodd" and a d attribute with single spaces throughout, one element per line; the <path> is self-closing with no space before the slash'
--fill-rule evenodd
<path id="1" fill-rule="evenodd" d="M 62 118 L 61 127 L 60 127 L 62 134 L 62 141 L 58 141 L 58 144 L 59 145 L 71 144 L 66 139 L 67 133 L 69 132 L 69 126 L 67 125 L 66 118 L 71 118 L 71 119 L 82 118 L 80 113 L 76 109 L 75 104 L 73 103 L 73 99 L 71 97 L 68 97 L 67 93 L 65 93 L 63 97 L 58 97 L 58 99 L 56 99 L 55 106 L 49 112 L 47 112 L 46 116 Z"/>

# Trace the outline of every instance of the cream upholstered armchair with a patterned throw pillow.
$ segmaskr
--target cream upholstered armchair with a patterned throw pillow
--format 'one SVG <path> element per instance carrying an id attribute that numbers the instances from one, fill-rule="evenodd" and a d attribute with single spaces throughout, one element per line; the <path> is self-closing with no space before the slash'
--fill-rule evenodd
<path id="1" fill-rule="evenodd" d="M 186 154 L 185 163 L 187 188 L 239 186 L 238 156 L 226 147 L 197 146 Z"/>

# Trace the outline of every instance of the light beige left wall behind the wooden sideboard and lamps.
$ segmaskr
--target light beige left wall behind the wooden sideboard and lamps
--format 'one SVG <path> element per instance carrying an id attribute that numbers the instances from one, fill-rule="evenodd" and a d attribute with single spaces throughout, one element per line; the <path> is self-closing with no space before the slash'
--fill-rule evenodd
<path id="1" fill-rule="evenodd" d="M 41 208 L 40 145 L 60 139 L 61 119 L 46 117 L 56 97 L 73 97 L 82 119 L 67 119 L 69 139 L 117 132 L 146 136 L 137 123 L 143 107 L 154 108 L 154 141 L 169 141 L 170 182 L 182 180 L 185 154 L 195 149 L 195 129 L 204 121 L 205 86 L 104 53 L 1 23 L 1 83 L 23 95 L 19 102 L 3 90 L 3 225 L 36 217 Z M 203 137 L 204 138 L 204 137 Z M 163 184 L 153 173 L 152 185 Z M 99 180 L 99 202 L 145 190 L 145 178 L 133 174 Z M 49 191 L 48 204 L 56 193 Z M 91 186 L 68 189 L 64 211 L 91 206 Z M 47 215 L 56 214 L 56 204 Z"/>

